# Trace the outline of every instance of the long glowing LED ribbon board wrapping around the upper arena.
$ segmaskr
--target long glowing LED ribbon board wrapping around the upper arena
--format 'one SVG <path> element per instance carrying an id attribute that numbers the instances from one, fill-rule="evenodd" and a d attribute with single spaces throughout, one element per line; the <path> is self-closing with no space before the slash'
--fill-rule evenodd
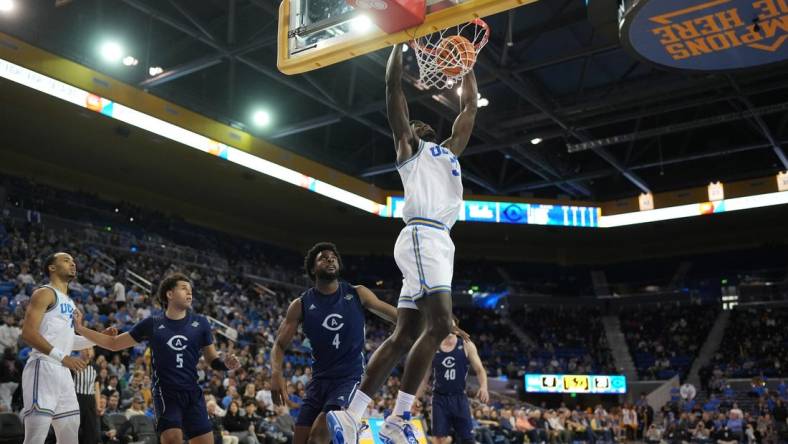
<path id="1" fill-rule="evenodd" d="M 385 205 L 379 204 L 366 197 L 249 154 L 238 148 L 217 142 L 193 131 L 173 125 L 164 120 L 131 109 L 120 103 L 73 87 L 3 59 L 0 59 L 0 77 L 72 103 L 81 108 L 89 109 L 112 119 L 144 129 L 161 137 L 181 143 L 189 148 L 211 154 L 220 159 L 233 162 L 289 184 L 305 188 L 368 213 L 377 214 L 382 217 L 402 217 L 402 207 L 405 200 L 401 196 L 390 196 Z M 599 207 L 471 200 L 463 201 L 459 220 L 465 222 L 520 225 L 609 228 L 784 204 L 788 204 L 788 191 L 603 216 Z"/>

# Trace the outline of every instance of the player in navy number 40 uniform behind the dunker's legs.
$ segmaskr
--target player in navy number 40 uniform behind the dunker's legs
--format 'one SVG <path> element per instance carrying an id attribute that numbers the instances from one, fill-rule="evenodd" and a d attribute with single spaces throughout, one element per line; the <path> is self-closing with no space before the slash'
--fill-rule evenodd
<path id="1" fill-rule="evenodd" d="M 455 322 L 456 319 L 455 319 Z M 468 367 L 473 368 L 479 381 L 477 396 L 483 403 L 490 400 L 487 392 L 487 371 L 479 359 L 476 345 L 449 334 L 441 342 L 432 358 L 432 435 L 436 444 L 448 444 L 451 431 L 459 444 L 474 444 L 473 419 L 468 397 L 465 396 L 465 378 Z M 429 379 L 429 374 L 425 382 Z"/>

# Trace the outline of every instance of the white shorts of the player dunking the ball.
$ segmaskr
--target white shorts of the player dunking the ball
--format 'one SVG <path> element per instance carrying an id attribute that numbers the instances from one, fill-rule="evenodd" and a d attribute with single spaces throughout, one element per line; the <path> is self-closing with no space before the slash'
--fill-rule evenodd
<path id="1" fill-rule="evenodd" d="M 410 223 L 394 245 L 394 260 L 402 272 L 397 308 L 417 309 L 416 301 L 438 292 L 451 293 L 454 242 L 446 228 Z"/>

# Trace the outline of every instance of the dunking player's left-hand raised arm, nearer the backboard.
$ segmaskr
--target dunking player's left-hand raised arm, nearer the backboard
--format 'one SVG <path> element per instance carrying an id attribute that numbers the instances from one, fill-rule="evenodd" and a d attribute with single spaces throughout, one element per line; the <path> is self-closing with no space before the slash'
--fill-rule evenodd
<path id="1" fill-rule="evenodd" d="M 394 45 L 386 66 L 386 109 L 399 164 L 410 159 L 418 145 L 410 127 L 408 101 L 402 92 L 402 45 Z"/>

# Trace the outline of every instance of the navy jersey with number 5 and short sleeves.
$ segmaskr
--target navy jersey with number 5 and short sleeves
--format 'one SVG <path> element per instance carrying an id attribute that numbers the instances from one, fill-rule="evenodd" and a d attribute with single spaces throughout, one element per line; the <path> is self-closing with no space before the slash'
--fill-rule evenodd
<path id="1" fill-rule="evenodd" d="M 211 326 L 204 316 L 188 312 L 183 319 L 151 316 L 129 334 L 151 347 L 154 388 L 192 390 L 197 383 L 197 362 L 202 348 L 213 344 Z"/>

